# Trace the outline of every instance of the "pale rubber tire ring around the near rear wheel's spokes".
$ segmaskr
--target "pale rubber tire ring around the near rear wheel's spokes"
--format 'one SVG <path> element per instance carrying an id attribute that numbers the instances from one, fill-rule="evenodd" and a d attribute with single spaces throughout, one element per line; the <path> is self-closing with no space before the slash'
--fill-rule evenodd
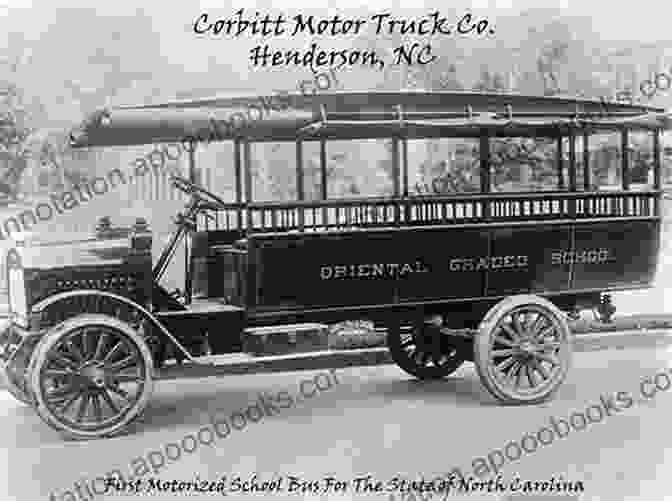
<path id="1" fill-rule="evenodd" d="M 547 312 L 558 321 L 560 328 L 564 331 L 563 335 L 567 340 L 567 362 L 562 371 L 563 373 L 560 376 L 560 380 L 547 392 L 534 398 L 516 398 L 499 388 L 488 372 L 487 367 L 490 363 L 488 356 L 490 351 L 490 334 L 502 317 L 506 316 L 511 310 L 528 304 L 546 309 Z M 485 317 L 483 317 L 483 320 L 478 326 L 478 333 L 474 337 L 474 363 L 481 382 L 497 400 L 506 405 L 534 405 L 550 400 L 560 389 L 567 377 L 571 366 L 571 355 L 572 335 L 562 311 L 550 301 L 535 295 L 509 296 L 501 300 L 488 311 Z"/>

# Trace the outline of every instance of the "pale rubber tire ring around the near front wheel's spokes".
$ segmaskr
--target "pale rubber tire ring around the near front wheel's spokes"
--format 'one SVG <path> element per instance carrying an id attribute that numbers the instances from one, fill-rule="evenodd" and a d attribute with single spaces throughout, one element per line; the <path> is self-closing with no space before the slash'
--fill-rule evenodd
<path id="1" fill-rule="evenodd" d="M 51 348 L 56 345 L 61 338 L 68 334 L 70 331 L 82 327 L 84 325 L 92 324 L 102 324 L 108 328 L 117 329 L 124 333 L 138 348 L 142 362 L 145 368 L 145 381 L 143 387 L 143 394 L 138 399 L 138 401 L 133 405 L 133 407 L 126 412 L 124 419 L 116 423 L 109 429 L 104 430 L 77 430 L 71 427 L 66 427 L 61 423 L 49 410 L 44 402 L 44 397 L 41 391 L 40 384 L 40 372 L 41 368 L 46 361 L 46 357 L 51 350 Z M 77 317 L 69 318 L 64 322 L 60 323 L 56 327 L 52 328 L 44 335 L 40 340 L 38 345 L 35 348 L 33 357 L 31 360 L 30 372 L 30 388 L 35 398 L 35 410 L 42 418 L 52 428 L 58 430 L 66 438 L 72 440 L 90 440 L 98 438 L 107 438 L 114 435 L 122 433 L 127 427 L 131 425 L 136 419 L 138 419 L 142 413 L 145 411 L 149 399 L 152 394 L 153 385 L 154 385 L 154 361 L 152 359 L 152 354 L 149 351 L 147 343 L 142 338 L 142 336 L 132 329 L 128 324 L 108 315 L 92 315 L 84 314 Z"/>

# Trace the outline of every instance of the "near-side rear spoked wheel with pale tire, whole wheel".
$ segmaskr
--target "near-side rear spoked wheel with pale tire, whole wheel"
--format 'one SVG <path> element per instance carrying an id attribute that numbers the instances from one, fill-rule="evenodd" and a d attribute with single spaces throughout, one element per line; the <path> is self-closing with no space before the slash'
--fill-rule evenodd
<path id="1" fill-rule="evenodd" d="M 485 316 L 474 338 L 484 386 L 508 404 L 549 399 L 565 380 L 571 333 L 562 312 L 537 296 L 512 296 Z"/>

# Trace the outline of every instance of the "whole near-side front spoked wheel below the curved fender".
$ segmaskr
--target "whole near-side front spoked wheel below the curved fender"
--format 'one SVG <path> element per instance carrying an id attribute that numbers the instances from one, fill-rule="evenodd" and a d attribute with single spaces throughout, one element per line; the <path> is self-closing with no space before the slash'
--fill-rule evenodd
<path id="1" fill-rule="evenodd" d="M 140 334 L 105 315 L 80 315 L 50 330 L 29 370 L 40 417 L 70 438 L 115 435 L 144 411 L 152 355 Z"/>

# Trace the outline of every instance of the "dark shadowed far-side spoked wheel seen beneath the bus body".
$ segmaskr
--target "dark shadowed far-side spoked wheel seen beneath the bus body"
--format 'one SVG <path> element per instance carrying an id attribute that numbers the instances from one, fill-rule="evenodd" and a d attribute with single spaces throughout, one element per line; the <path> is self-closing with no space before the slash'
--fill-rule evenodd
<path id="1" fill-rule="evenodd" d="M 450 338 L 422 320 L 410 328 L 395 322 L 388 327 L 387 346 L 395 363 L 418 379 L 439 379 L 455 372 L 465 361 Z"/>

